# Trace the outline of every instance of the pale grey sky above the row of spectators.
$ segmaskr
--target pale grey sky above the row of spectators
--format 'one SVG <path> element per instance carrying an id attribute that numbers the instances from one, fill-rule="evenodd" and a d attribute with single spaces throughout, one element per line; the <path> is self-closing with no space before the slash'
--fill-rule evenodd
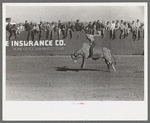
<path id="1" fill-rule="evenodd" d="M 6 6 L 14 22 L 127 20 L 144 22 L 144 6 Z"/>

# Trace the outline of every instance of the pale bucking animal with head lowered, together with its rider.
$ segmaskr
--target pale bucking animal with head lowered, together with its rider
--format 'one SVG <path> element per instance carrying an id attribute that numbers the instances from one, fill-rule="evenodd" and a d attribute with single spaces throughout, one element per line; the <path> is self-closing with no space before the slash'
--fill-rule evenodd
<path id="1" fill-rule="evenodd" d="M 114 67 L 114 64 L 116 64 L 116 62 L 113 53 L 105 47 L 95 45 L 93 35 L 86 34 L 86 37 L 90 41 L 90 43 L 83 43 L 80 49 L 71 54 L 73 62 L 76 63 L 79 58 L 82 58 L 81 68 L 84 68 L 85 62 L 88 58 L 92 58 L 93 60 L 102 58 L 107 64 L 108 70 L 111 65 L 113 70 L 116 71 Z"/>

